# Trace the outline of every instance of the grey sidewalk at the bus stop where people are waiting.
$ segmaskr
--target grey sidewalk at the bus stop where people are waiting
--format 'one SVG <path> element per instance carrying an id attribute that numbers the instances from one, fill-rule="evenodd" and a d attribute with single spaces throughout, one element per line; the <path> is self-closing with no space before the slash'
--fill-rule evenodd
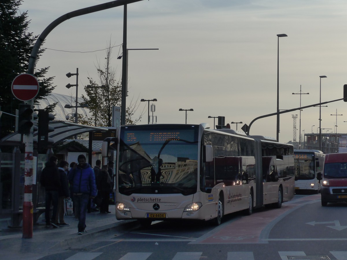
<path id="1" fill-rule="evenodd" d="M 83 235 L 78 235 L 78 220 L 74 216 L 66 216 L 64 220 L 70 224 L 66 227 L 46 227 L 44 214 L 33 226 L 33 238 L 23 239 L 22 228 L 8 228 L 10 218 L 0 219 L 0 258 L 1 259 L 39 259 L 47 254 L 69 249 L 81 242 L 95 240 L 100 236 L 114 235 L 120 222 L 116 219 L 115 206 L 110 205 L 108 214 L 99 212 L 87 213 L 86 229 Z M 126 221 L 132 222 L 132 221 Z"/>

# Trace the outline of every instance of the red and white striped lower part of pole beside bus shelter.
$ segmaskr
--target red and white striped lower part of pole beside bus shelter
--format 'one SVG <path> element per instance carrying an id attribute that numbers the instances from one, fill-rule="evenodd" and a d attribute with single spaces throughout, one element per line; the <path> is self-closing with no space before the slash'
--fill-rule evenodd
<path id="1" fill-rule="evenodd" d="M 27 101 L 33 107 L 33 99 Z M 25 175 L 24 175 L 24 202 L 23 202 L 23 238 L 33 238 L 33 141 L 34 127 L 30 133 L 24 135 L 25 143 Z"/>

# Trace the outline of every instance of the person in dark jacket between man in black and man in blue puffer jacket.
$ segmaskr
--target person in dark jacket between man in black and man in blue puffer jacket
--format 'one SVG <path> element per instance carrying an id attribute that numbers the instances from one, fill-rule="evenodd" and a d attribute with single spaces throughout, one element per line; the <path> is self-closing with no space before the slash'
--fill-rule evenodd
<path id="1" fill-rule="evenodd" d="M 70 199 L 70 189 L 69 183 L 67 180 L 66 170 L 69 166 L 69 163 L 66 161 L 61 161 L 59 163 L 59 175 L 61 186 L 59 188 L 59 203 L 58 203 L 58 212 L 56 216 L 56 224 L 59 226 L 68 226 L 69 224 L 64 221 L 64 199 Z M 58 222 L 58 217 L 59 221 Z"/>

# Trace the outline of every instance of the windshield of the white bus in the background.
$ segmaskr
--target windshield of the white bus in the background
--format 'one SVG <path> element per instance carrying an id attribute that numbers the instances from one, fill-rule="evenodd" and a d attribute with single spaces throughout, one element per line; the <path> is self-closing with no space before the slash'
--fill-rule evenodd
<path id="1" fill-rule="evenodd" d="M 313 180 L 315 164 L 312 154 L 295 154 L 295 180 Z"/>

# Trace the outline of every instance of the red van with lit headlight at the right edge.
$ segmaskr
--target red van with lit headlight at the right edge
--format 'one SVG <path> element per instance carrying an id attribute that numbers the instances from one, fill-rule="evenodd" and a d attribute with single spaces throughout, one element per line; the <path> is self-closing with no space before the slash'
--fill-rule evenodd
<path id="1" fill-rule="evenodd" d="M 325 155 L 321 178 L 322 206 L 328 202 L 347 202 L 347 153 Z"/>

